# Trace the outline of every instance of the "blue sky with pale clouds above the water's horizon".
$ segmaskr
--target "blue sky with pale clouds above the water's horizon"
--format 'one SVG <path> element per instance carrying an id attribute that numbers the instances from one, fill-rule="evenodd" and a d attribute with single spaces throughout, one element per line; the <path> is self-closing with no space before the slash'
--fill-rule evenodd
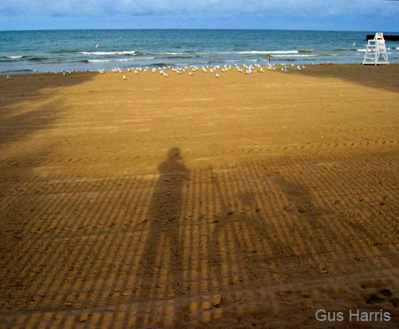
<path id="1" fill-rule="evenodd" d="M 0 30 L 259 28 L 399 31 L 387 0 L 0 0 Z"/>

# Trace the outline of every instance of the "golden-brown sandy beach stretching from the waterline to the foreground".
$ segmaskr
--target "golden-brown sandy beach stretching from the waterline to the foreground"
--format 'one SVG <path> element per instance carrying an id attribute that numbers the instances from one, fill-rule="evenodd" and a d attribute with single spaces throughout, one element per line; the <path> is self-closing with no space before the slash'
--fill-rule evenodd
<path id="1" fill-rule="evenodd" d="M 289 69 L 0 76 L 0 327 L 397 328 L 399 65 Z"/>

